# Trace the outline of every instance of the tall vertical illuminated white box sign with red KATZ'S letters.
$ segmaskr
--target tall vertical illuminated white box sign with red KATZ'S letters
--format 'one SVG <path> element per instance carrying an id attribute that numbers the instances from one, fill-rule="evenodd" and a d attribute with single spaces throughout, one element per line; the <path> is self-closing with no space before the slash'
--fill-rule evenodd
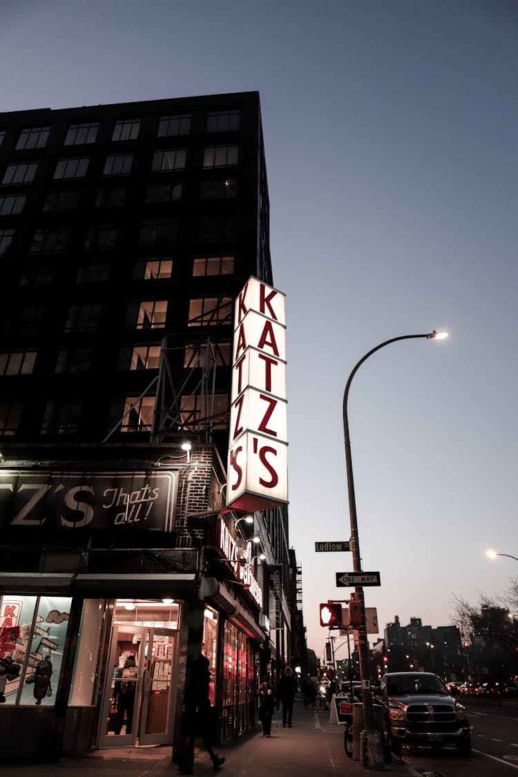
<path id="1" fill-rule="evenodd" d="M 285 295 L 251 277 L 235 302 L 227 505 L 287 504 Z"/>

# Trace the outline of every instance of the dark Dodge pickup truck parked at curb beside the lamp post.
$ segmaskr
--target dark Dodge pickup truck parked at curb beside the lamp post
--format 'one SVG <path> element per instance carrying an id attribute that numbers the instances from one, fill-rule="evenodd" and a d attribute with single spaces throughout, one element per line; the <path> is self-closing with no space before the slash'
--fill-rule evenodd
<path id="1" fill-rule="evenodd" d="M 466 708 L 431 672 L 389 672 L 378 692 L 391 751 L 401 755 L 403 744 L 441 747 L 454 744 L 461 756 L 471 755 Z"/>

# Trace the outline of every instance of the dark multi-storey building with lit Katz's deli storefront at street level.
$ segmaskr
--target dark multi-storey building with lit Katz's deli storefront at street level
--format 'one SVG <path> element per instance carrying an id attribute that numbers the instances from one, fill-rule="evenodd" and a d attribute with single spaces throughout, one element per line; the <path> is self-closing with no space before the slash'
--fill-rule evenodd
<path id="1" fill-rule="evenodd" d="M 238 736 L 293 642 L 287 507 L 225 507 L 222 463 L 234 301 L 273 283 L 259 95 L 0 113 L 0 263 L 12 758 L 176 760 L 200 651 Z"/>

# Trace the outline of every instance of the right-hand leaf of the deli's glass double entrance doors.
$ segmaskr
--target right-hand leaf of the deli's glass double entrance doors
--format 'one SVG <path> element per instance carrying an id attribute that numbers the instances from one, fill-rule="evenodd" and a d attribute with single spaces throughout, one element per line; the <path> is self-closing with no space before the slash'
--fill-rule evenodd
<path id="1" fill-rule="evenodd" d="M 149 629 L 146 648 L 139 744 L 168 744 L 176 692 L 176 631 Z"/>

